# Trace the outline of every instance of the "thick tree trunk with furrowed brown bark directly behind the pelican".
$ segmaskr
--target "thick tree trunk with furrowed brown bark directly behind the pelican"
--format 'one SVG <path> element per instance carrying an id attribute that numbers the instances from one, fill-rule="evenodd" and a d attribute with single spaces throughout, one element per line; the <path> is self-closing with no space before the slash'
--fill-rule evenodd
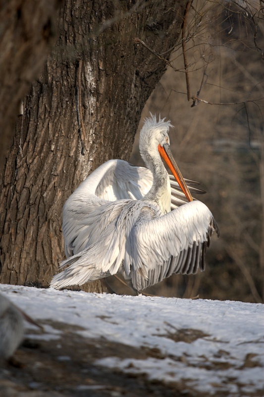
<path id="1" fill-rule="evenodd" d="M 185 3 L 65 1 L 57 45 L 25 96 L 1 176 L 1 282 L 49 284 L 64 257 L 63 203 L 100 164 L 129 158 L 165 70 L 135 39 L 169 59 Z"/>

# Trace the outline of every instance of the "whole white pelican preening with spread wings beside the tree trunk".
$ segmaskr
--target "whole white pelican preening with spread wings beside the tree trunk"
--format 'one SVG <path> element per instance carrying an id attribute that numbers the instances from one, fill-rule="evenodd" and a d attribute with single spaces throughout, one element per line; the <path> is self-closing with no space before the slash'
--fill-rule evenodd
<path id="1" fill-rule="evenodd" d="M 201 191 L 187 187 L 172 157 L 170 127 L 170 121 L 151 115 L 139 140 L 147 168 L 109 160 L 67 199 L 62 215 L 67 259 L 60 268 L 67 267 L 53 276 L 51 287 L 121 273 L 141 291 L 172 273 L 205 269 L 206 249 L 218 228 L 208 207 L 190 193 Z"/>

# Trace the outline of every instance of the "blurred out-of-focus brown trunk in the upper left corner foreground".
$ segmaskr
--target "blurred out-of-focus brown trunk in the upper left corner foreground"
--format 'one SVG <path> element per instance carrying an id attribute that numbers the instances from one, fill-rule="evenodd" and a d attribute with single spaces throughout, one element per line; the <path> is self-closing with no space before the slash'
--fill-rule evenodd
<path id="1" fill-rule="evenodd" d="M 0 166 L 14 135 L 19 103 L 46 61 L 55 40 L 61 0 L 0 2 Z"/>

